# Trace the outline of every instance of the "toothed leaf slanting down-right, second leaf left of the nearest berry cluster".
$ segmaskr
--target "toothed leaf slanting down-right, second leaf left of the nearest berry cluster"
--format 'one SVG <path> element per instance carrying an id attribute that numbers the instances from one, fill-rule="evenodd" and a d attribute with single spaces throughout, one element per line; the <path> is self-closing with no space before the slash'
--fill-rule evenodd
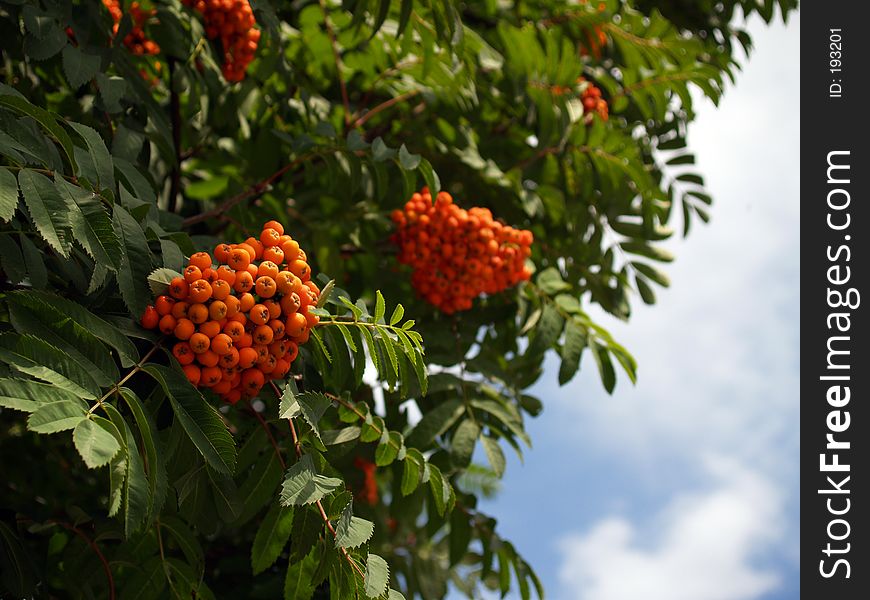
<path id="1" fill-rule="evenodd" d="M 68 209 L 73 237 L 99 264 L 112 271 L 121 268 L 123 248 L 112 228 L 112 219 L 93 193 L 63 179 L 55 181 Z"/>

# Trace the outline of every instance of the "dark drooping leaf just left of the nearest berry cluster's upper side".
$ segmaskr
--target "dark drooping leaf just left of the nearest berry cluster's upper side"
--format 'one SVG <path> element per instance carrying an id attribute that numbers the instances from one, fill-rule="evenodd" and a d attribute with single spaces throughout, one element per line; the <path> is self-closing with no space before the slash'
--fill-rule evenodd
<path id="1" fill-rule="evenodd" d="M 145 312 L 150 298 L 145 282 L 152 269 L 151 251 L 139 223 L 117 204 L 112 213 L 112 223 L 124 247 L 121 268 L 118 269 L 118 287 L 124 304 L 138 318 Z"/>

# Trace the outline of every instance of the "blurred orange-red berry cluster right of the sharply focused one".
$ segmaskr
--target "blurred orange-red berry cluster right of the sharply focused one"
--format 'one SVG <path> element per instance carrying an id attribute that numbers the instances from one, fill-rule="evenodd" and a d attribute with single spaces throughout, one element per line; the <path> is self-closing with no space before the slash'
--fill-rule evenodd
<path id="1" fill-rule="evenodd" d="M 487 208 L 465 210 L 447 192 L 439 192 L 433 203 L 423 188 L 391 216 L 399 262 L 413 267 L 414 289 L 446 314 L 468 310 L 479 295 L 498 293 L 531 275 L 525 260 L 532 232 L 499 223 Z"/>

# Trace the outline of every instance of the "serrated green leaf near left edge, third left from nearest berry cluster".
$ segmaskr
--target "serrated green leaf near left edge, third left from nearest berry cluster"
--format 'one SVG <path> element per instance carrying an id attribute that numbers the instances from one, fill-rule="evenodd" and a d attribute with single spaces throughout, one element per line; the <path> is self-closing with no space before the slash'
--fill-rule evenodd
<path id="1" fill-rule="evenodd" d="M 69 256 L 67 205 L 55 189 L 54 183 L 45 175 L 30 169 L 21 170 L 18 182 L 36 230 L 59 254 Z"/>

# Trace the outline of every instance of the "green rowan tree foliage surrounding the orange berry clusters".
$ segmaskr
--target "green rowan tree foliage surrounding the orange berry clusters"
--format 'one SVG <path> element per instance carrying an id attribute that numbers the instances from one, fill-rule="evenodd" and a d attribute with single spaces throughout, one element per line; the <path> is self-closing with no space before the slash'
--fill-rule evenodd
<path id="1" fill-rule="evenodd" d="M 773 0 L 260 1 L 233 85 L 198 15 L 143 4 L 157 57 L 100 2 L 0 2 L 0 595 L 542 596 L 478 497 L 531 446 L 546 356 L 561 384 L 635 380 L 589 308 L 654 303 L 662 242 L 708 220 L 692 91 L 719 101 L 736 9 Z M 532 230 L 532 280 L 420 301 L 389 215 L 424 185 Z M 137 321 L 269 219 L 321 273 L 320 325 L 286 382 L 218 407 Z"/>

